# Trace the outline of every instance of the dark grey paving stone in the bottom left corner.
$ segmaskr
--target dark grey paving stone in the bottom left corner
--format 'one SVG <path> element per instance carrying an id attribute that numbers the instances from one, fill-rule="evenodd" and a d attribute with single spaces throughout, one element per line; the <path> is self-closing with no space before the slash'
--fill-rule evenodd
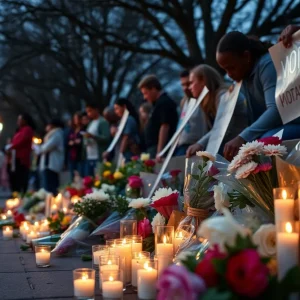
<path id="1" fill-rule="evenodd" d="M 2 265 L 0 267 L 2 270 Z M 0 273 L 0 299 L 33 299 L 25 273 Z"/>

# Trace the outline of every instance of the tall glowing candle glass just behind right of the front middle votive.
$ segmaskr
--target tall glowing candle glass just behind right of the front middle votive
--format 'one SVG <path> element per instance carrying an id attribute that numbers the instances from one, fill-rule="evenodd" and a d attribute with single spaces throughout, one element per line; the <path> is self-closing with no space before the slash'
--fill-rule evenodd
<path id="1" fill-rule="evenodd" d="M 129 285 L 131 282 L 131 258 L 132 240 L 116 239 L 115 255 L 120 256 L 120 269 L 123 271 L 124 282 Z"/>

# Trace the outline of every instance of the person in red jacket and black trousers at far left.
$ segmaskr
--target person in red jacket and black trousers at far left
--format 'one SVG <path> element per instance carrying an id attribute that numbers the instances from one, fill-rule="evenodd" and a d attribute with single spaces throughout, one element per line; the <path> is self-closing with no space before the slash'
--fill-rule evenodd
<path id="1" fill-rule="evenodd" d="M 11 190 L 25 194 L 29 181 L 31 145 L 35 126 L 32 118 L 26 113 L 18 116 L 17 126 L 11 143 L 6 146 L 6 153 L 10 161 Z"/>

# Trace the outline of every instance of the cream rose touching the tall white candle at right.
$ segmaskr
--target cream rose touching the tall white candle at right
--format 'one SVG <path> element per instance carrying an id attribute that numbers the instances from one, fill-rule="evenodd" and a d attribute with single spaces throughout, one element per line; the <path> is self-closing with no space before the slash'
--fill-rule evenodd
<path id="1" fill-rule="evenodd" d="M 266 224 L 253 234 L 252 240 L 258 246 L 258 252 L 263 257 L 276 255 L 276 227 Z"/>

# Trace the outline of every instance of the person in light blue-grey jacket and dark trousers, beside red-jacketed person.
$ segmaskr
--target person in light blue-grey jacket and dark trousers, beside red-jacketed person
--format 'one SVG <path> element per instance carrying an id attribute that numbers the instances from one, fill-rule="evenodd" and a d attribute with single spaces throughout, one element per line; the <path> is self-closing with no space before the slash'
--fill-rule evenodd
<path id="1" fill-rule="evenodd" d="M 41 185 L 56 196 L 59 174 L 63 170 L 65 159 L 63 123 L 53 119 L 48 123 L 46 132 L 43 144 L 35 150 L 36 154 L 40 155 Z"/>

